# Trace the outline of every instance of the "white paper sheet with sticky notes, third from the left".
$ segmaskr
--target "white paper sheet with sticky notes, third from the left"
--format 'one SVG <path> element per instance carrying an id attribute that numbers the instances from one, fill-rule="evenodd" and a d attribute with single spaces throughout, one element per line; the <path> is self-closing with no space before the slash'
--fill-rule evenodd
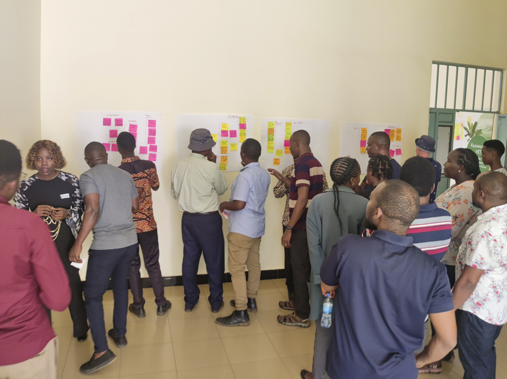
<path id="1" fill-rule="evenodd" d="M 294 163 L 289 139 L 298 130 L 310 134 L 310 147 L 325 172 L 329 171 L 329 121 L 304 119 L 262 119 L 259 162 L 264 168 L 277 171 Z"/>

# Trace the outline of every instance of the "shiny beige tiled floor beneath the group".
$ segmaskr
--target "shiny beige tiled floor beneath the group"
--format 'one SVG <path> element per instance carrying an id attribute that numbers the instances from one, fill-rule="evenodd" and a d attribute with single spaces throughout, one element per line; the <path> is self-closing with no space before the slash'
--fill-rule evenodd
<path id="1" fill-rule="evenodd" d="M 250 314 L 247 327 L 221 327 L 216 317 L 227 316 L 233 308 L 231 283 L 224 284 L 225 307 L 212 314 L 207 285 L 201 287 L 201 298 L 192 313 L 184 312 L 183 287 L 166 287 L 166 297 L 172 302 L 171 311 L 157 316 L 153 291 L 144 291 L 147 317 L 127 318 L 128 346 L 110 348 L 116 361 L 90 377 L 125 379 L 298 379 L 301 369 L 311 370 L 315 325 L 307 329 L 278 324 L 276 316 L 284 311 L 279 300 L 286 300 L 284 279 L 264 280 L 259 288 L 259 312 Z M 104 296 L 106 330 L 113 322 L 113 295 Z M 90 359 L 93 341 L 90 337 L 78 343 L 72 337 L 72 322 L 68 311 L 53 313 L 53 327 L 60 340 L 59 378 L 83 378 L 79 366 Z M 507 332 L 497 340 L 497 378 L 507 379 Z M 463 368 L 456 359 L 444 363 L 439 379 L 458 379 Z M 419 375 L 429 378 L 434 375 Z"/>

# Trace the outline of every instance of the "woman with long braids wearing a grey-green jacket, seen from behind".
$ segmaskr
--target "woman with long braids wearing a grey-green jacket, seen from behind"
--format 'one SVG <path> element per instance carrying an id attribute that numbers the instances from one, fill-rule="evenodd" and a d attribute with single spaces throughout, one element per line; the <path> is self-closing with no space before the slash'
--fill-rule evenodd
<path id="1" fill-rule="evenodd" d="M 322 377 L 325 359 L 331 341 L 331 328 L 320 326 L 324 297 L 320 290 L 320 266 L 331 248 L 347 234 L 359 234 L 366 215 L 368 200 L 355 194 L 361 181 L 359 163 L 352 158 L 338 158 L 331 165 L 333 187 L 312 199 L 306 216 L 308 249 L 312 275 L 310 276 L 311 312 L 315 322 L 313 373 L 303 370 L 305 379 Z"/>

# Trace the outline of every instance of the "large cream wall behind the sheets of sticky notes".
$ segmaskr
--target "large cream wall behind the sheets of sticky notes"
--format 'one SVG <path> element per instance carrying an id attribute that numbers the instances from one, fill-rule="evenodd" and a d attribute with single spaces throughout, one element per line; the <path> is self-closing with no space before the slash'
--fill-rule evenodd
<path id="1" fill-rule="evenodd" d="M 253 115 L 257 138 L 263 117 L 330 120 L 330 162 L 343 121 L 403 124 L 405 160 L 427 132 L 431 61 L 507 67 L 505 20 L 504 0 L 43 0 L 42 136 L 72 172 L 77 110 L 162 112 L 155 216 L 163 275 L 179 275 L 178 113 Z M 283 201 L 266 209 L 262 266 L 282 268 Z"/>

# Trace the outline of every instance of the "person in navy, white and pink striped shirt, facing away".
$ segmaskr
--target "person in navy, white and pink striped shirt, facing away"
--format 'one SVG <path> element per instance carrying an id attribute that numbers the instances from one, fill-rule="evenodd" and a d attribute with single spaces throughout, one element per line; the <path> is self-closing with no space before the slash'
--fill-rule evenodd
<path id="1" fill-rule="evenodd" d="M 429 202 L 435 186 L 435 169 L 427 159 L 412 157 L 402 166 L 400 179 L 416 189 L 421 203 L 419 215 L 410 225 L 407 237 L 412 237 L 414 246 L 440 262 L 451 242 L 452 218 L 447 210 Z"/>

